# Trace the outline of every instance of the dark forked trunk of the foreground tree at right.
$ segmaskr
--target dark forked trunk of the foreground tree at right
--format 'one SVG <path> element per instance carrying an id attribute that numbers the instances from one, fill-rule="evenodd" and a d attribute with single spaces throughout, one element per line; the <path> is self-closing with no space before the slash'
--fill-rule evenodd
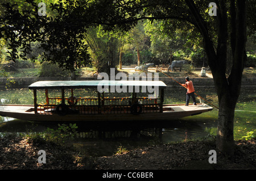
<path id="1" fill-rule="evenodd" d="M 228 14 L 226 1 L 217 2 L 218 12 L 216 16 L 218 30 L 218 44 L 214 48 L 209 36 L 208 27 L 193 1 L 185 0 L 196 26 L 204 37 L 205 52 L 208 56 L 208 65 L 212 70 L 214 86 L 218 95 L 218 128 L 216 147 L 225 154 L 234 153 L 234 110 L 238 96 L 240 95 L 242 71 L 246 61 L 246 0 L 232 0 L 230 2 L 231 31 L 228 33 Z M 230 42 L 233 53 L 233 64 L 230 75 L 226 77 L 227 39 Z"/>

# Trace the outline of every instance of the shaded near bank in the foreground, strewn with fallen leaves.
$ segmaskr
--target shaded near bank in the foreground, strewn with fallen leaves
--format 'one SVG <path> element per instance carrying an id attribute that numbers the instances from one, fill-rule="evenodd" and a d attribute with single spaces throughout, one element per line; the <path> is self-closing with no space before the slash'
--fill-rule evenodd
<path id="1" fill-rule="evenodd" d="M 38 163 L 38 151 L 46 151 L 46 163 Z M 217 151 L 217 163 L 210 164 L 214 141 L 188 141 L 151 145 L 111 156 L 89 157 L 73 146 L 29 140 L 0 138 L 0 170 L 255 170 L 256 140 L 236 141 L 233 157 Z"/>

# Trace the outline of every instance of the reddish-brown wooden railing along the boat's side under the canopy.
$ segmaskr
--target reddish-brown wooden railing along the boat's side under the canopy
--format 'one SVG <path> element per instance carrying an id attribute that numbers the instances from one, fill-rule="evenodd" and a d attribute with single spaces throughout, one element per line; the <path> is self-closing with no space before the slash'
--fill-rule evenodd
<path id="1" fill-rule="evenodd" d="M 48 98 L 46 104 L 38 104 L 38 113 L 52 114 L 57 112 L 57 106 L 62 102 L 61 98 Z M 158 99 L 147 97 L 134 99 L 126 98 L 65 98 L 69 113 L 79 114 L 108 114 L 131 113 L 133 103 L 141 105 L 141 112 L 159 112 Z"/>

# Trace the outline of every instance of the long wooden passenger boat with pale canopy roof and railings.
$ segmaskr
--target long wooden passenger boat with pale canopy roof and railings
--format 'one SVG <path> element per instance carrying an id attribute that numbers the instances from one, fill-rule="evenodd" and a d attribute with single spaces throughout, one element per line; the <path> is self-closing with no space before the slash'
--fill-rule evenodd
<path id="1" fill-rule="evenodd" d="M 105 97 L 104 94 L 108 90 L 106 87 L 109 86 L 113 90 L 117 90 L 117 87 L 122 87 L 122 90 L 129 87 L 129 90 L 132 90 L 129 93 L 131 96 Z M 159 96 L 137 96 L 145 87 L 150 86 L 151 90 L 154 86 L 154 89 L 159 91 Z M 34 92 L 34 105 L 1 104 L 0 115 L 31 121 L 156 121 L 179 119 L 213 109 L 207 104 L 163 104 L 166 88 L 162 81 L 39 81 L 28 86 L 28 89 Z M 49 89 L 61 90 L 61 96 L 50 97 Z M 95 91 L 96 96 L 88 98 L 74 95 L 75 89 L 89 89 Z M 46 99 L 43 104 L 38 103 L 38 90 L 45 91 Z M 65 96 L 67 91 L 71 96 Z M 116 91 L 115 95 L 118 95 Z"/>

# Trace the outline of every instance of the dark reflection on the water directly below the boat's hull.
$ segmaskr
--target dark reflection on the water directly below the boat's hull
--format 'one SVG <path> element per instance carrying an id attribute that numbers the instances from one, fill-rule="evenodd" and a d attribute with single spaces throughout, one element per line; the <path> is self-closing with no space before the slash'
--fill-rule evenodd
<path id="1" fill-rule="evenodd" d="M 72 122 L 72 124 L 75 122 Z M 2 121 L 0 132 L 44 132 L 47 128 L 58 129 L 58 124 L 69 125 L 67 122 L 37 122 L 26 120 Z M 131 141 L 150 141 L 168 143 L 207 136 L 206 127 L 215 127 L 214 120 L 172 120 L 172 121 L 134 121 L 129 123 L 97 122 L 77 123 L 77 138 L 89 139 L 115 139 L 124 138 Z"/>

